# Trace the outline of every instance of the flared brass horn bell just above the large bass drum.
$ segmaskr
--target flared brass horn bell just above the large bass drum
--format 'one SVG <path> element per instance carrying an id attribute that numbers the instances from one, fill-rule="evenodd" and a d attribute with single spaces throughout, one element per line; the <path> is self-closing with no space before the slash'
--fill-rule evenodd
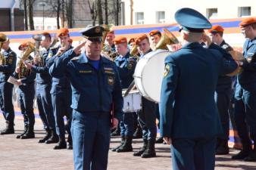
<path id="1" fill-rule="evenodd" d="M 155 46 L 155 50 L 168 50 L 167 45 L 175 45 L 178 43 L 179 40 L 176 39 L 176 36 L 174 36 L 172 32 L 168 31 L 168 29 L 164 29 L 164 33 L 162 34 L 158 44 Z"/>

